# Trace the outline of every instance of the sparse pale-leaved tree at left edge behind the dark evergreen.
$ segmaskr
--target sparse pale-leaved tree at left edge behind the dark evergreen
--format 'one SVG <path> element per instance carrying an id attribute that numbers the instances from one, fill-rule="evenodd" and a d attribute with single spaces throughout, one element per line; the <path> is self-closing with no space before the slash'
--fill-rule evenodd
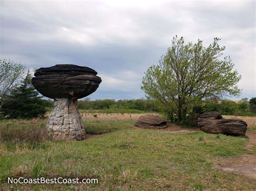
<path id="1" fill-rule="evenodd" d="M 0 60 L 0 109 L 10 91 L 18 86 L 25 73 L 25 66 L 10 60 Z"/>

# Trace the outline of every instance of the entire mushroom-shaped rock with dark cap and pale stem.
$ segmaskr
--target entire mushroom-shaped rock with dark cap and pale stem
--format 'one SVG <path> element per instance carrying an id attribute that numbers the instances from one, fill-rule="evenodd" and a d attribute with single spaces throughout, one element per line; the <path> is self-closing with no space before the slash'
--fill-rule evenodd
<path id="1" fill-rule="evenodd" d="M 53 139 L 83 140 L 86 138 L 77 99 L 92 94 L 102 79 L 97 72 L 77 65 L 55 65 L 39 68 L 32 78 L 33 86 L 54 100 L 46 128 Z"/>

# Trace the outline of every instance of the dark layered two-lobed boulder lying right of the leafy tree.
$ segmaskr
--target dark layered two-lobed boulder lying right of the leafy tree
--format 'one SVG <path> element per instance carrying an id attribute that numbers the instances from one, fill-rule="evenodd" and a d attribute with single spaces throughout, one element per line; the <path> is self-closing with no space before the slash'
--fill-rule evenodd
<path id="1" fill-rule="evenodd" d="M 245 135 L 247 130 L 246 122 L 241 119 L 223 119 L 216 111 L 201 114 L 198 118 L 198 126 L 204 132 L 234 136 Z"/>

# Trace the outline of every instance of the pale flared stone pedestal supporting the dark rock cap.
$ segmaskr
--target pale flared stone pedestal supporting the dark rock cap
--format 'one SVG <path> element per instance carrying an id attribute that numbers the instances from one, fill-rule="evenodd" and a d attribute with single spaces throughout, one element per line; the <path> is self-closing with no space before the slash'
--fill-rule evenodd
<path id="1" fill-rule="evenodd" d="M 86 139 L 77 100 L 56 98 L 46 128 L 56 140 Z"/>

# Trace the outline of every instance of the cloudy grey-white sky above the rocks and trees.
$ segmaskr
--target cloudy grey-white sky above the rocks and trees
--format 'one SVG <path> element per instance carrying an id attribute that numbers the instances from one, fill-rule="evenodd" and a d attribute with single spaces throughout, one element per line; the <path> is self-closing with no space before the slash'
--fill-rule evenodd
<path id="1" fill-rule="evenodd" d="M 255 1 L 4 1 L 1 59 L 29 68 L 73 63 L 95 69 L 103 82 L 90 95 L 144 97 L 147 67 L 157 64 L 172 37 L 221 38 L 242 75 L 241 97 L 256 96 Z"/>

